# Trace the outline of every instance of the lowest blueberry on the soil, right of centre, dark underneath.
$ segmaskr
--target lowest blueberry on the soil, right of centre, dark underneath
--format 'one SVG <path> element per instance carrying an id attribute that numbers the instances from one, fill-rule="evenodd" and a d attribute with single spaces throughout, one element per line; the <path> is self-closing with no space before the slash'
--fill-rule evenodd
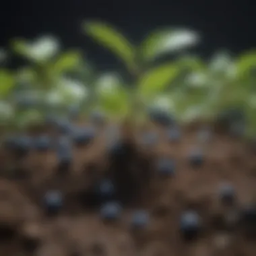
<path id="1" fill-rule="evenodd" d="M 180 230 L 184 238 L 195 238 L 201 229 L 201 220 L 197 212 L 187 211 L 181 215 Z"/>

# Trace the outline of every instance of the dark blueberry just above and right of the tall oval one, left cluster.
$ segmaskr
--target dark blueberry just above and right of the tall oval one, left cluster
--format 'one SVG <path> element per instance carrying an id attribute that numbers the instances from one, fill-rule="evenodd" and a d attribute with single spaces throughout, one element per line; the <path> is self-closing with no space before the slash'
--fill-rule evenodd
<path id="1" fill-rule="evenodd" d="M 95 130 L 92 127 L 78 128 L 73 130 L 73 141 L 77 146 L 86 145 L 95 137 Z"/>

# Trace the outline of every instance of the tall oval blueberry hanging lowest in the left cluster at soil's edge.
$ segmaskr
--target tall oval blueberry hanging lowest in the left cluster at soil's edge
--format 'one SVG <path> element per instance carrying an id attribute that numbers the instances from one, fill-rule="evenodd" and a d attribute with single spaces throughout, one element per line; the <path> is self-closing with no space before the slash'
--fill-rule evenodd
<path id="1" fill-rule="evenodd" d="M 67 137 L 61 137 L 57 145 L 57 158 L 60 166 L 69 166 L 71 164 L 73 154 L 72 154 L 72 145 Z"/>

